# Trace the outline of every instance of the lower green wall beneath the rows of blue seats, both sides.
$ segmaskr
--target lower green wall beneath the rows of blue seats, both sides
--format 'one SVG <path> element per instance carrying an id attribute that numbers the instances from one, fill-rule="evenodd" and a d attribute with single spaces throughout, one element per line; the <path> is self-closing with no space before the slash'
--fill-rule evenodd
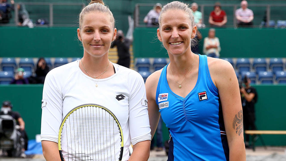
<path id="1" fill-rule="evenodd" d="M 254 86 L 258 93 L 256 125 L 259 130 L 286 130 L 285 91 L 286 86 Z M 8 85 L 0 86 L 0 101 L 11 100 L 13 110 L 20 112 L 26 123 L 29 139 L 41 133 L 41 99 L 43 85 Z M 163 123 L 164 124 L 164 123 Z M 164 126 L 164 125 L 163 125 Z M 162 128 L 164 140 L 169 132 Z M 286 145 L 286 135 L 262 135 L 266 145 Z M 261 145 L 257 141 L 257 145 Z"/>

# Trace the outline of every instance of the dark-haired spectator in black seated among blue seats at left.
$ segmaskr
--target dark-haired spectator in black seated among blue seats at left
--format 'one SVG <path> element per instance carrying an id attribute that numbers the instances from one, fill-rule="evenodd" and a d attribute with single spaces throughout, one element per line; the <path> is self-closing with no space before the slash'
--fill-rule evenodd
<path id="1" fill-rule="evenodd" d="M 43 84 L 45 82 L 46 75 L 50 71 L 49 66 L 47 66 L 47 63 L 44 58 L 39 58 L 36 68 L 36 76 L 30 76 L 29 82 L 31 84 Z"/>

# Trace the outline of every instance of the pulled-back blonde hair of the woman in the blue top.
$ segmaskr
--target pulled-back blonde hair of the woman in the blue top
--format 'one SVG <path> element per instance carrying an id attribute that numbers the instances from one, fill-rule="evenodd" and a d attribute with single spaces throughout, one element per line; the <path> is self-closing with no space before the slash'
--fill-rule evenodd
<path id="1" fill-rule="evenodd" d="M 179 1 L 173 1 L 173 2 L 170 2 L 166 5 L 164 5 L 164 7 L 162 8 L 162 11 L 161 11 L 160 16 L 159 16 L 159 28 L 161 27 L 160 23 L 161 23 L 161 19 L 162 19 L 162 14 L 164 14 L 168 10 L 182 10 L 182 11 L 184 11 L 189 16 L 189 19 L 191 21 L 191 27 L 194 26 L 194 15 L 193 15 L 192 9 L 189 7 L 189 4 L 185 4 L 185 3 L 179 2 Z"/>

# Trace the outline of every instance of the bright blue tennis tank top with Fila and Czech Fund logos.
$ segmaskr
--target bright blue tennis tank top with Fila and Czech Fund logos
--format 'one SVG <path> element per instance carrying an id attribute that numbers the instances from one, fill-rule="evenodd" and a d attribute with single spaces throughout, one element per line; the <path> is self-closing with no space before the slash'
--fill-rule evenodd
<path id="1" fill-rule="evenodd" d="M 170 132 L 168 161 L 229 160 L 220 98 L 206 55 L 199 55 L 198 80 L 185 98 L 170 89 L 168 65 L 161 72 L 156 91 L 159 112 Z"/>

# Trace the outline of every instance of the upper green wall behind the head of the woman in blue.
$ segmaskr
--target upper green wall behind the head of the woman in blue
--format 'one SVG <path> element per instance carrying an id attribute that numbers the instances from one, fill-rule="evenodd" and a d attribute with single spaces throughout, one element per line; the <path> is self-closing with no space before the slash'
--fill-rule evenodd
<path id="1" fill-rule="evenodd" d="M 209 29 L 200 29 L 203 38 Z M 134 57 L 168 57 L 157 39 L 156 28 L 135 28 Z M 220 57 L 286 57 L 285 29 L 216 29 L 220 39 Z M 200 41 L 202 51 L 203 40 Z"/>

